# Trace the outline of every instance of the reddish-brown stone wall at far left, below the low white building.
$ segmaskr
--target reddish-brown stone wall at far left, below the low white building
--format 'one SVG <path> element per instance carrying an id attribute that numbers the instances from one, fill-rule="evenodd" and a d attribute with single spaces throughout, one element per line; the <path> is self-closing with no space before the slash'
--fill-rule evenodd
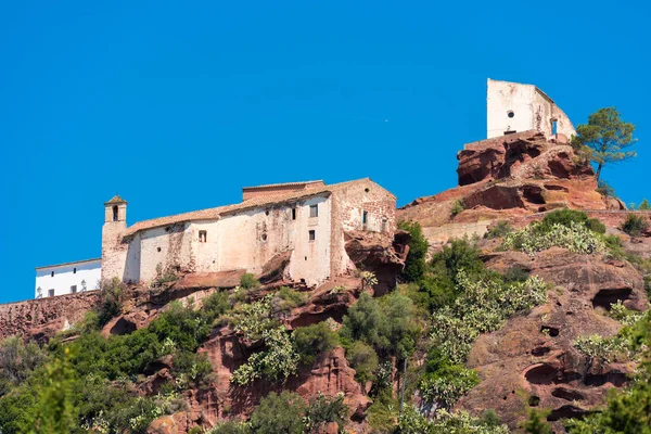
<path id="1" fill-rule="evenodd" d="M 44 327 L 61 331 L 84 319 L 98 304 L 99 295 L 99 291 L 88 291 L 0 305 L 0 340 L 35 335 Z"/>

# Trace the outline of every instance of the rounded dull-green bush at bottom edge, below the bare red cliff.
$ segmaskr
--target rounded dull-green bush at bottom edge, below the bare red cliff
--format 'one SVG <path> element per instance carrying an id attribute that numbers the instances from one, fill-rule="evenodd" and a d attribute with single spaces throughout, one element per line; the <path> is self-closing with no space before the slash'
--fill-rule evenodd
<path id="1" fill-rule="evenodd" d="M 303 434 L 305 410 L 305 401 L 298 394 L 271 392 L 251 414 L 252 431 L 256 434 Z"/>

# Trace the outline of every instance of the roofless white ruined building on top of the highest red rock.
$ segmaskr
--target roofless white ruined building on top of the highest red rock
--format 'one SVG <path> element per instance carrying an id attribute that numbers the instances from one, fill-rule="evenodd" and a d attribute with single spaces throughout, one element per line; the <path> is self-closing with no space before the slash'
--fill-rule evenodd
<path id="1" fill-rule="evenodd" d="M 533 85 L 488 79 L 487 138 L 536 130 L 559 142 L 576 135 L 570 118 Z"/>

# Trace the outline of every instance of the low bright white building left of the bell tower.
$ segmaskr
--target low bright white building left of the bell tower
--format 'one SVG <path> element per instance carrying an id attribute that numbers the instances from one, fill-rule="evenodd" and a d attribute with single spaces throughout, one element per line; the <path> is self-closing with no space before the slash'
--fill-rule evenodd
<path id="1" fill-rule="evenodd" d="M 74 269 L 77 272 L 74 272 Z M 54 271 L 54 277 L 52 277 Z M 36 270 L 35 297 L 47 297 L 49 290 L 54 290 L 54 295 L 71 294 L 71 286 L 77 285 L 77 292 L 82 291 L 81 281 L 86 281 L 86 290 L 91 291 L 99 288 L 102 277 L 102 261 L 100 259 L 80 264 L 68 264 L 65 266 L 53 266 Z"/>

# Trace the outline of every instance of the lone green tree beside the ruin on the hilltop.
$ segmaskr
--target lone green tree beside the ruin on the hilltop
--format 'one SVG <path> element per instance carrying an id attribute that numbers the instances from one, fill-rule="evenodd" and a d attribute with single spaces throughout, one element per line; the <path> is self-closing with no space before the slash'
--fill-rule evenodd
<path id="1" fill-rule="evenodd" d="M 637 156 L 635 151 L 623 151 L 633 145 L 635 126 L 622 119 L 615 107 L 599 108 L 588 116 L 588 123 L 576 127 L 577 136 L 572 138 L 575 148 L 587 146 L 590 161 L 597 165 L 597 179 L 603 166 Z"/>

